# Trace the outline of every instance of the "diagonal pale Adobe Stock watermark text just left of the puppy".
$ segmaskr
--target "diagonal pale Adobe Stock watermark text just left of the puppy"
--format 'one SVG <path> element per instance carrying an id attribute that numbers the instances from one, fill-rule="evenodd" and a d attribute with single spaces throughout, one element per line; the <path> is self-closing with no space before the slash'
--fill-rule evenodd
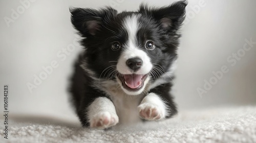
<path id="1" fill-rule="evenodd" d="M 67 57 L 76 50 L 76 47 L 79 46 L 79 43 L 77 43 L 78 40 L 79 36 L 76 35 L 73 40 L 73 43 L 68 44 L 66 48 L 62 48 L 56 53 L 58 60 L 52 60 L 50 64 L 47 66 L 41 66 L 42 70 L 40 71 L 40 73 L 37 75 L 33 75 L 33 82 L 26 83 L 30 93 L 32 93 L 32 90 L 34 88 L 37 88 L 40 84 L 42 84 L 44 80 L 47 79 L 49 75 L 53 73 L 54 69 L 59 66 L 59 62 L 65 61 Z"/>

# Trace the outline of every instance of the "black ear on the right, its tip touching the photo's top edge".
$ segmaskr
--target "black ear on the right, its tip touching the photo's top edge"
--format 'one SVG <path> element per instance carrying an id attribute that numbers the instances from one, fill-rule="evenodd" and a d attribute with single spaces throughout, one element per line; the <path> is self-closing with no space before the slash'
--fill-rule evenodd
<path id="1" fill-rule="evenodd" d="M 185 19 L 186 6 L 187 1 L 178 1 L 167 7 L 152 9 L 147 8 L 145 5 L 141 5 L 139 12 L 153 17 L 155 20 L 160 22 L 163 29 L 179 29 Z"/>

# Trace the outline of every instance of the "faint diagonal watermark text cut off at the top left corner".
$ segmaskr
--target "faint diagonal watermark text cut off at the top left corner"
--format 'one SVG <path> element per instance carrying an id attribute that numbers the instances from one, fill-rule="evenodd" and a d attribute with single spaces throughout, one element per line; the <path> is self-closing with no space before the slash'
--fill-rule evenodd
<path id="1" fill-rule="evenodd" d="M 34 3 L 35 1 L 36 0 L 20 0 L 20 5 L 16 9 L 11 9 L 11 16 L 4 17 L 7 27 L 10 27 L 10 23 L 15 22 L 15 20 L 17 20 L 20 17 L 20 15 L 26 11 L 26 9 L 30 8 L 31 3 Z"/>

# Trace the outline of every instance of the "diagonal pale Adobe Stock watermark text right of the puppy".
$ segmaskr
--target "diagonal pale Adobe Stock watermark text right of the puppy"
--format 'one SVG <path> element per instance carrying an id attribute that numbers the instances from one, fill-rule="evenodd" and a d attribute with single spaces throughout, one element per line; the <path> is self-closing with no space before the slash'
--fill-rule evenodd
<path id="1" fill-rule="evenodd" d="M 241 49 L 239 49 L 236 53 L 232 53 L 232 55 L 227 57 L 227 62 L 231 66 L 235 66 L 238 61 L 245 56 L 246 52 L 250 51 L 252 47 L 256 44 L 256 41 L 252 41 L 252 38 L 245 39 L 245 43 Z M 225 74 L 230 71 L 227 65 L 221 66 L 220 70 L 212 71 L 212 77 L 209 80 L 204 80 L 204 85 L 202 88 L 198 87 L 197 92 L 202 98 L 202 95 L 207 93 L 214 85 L 218 83 L 219 80 L 223 78 Z"/>

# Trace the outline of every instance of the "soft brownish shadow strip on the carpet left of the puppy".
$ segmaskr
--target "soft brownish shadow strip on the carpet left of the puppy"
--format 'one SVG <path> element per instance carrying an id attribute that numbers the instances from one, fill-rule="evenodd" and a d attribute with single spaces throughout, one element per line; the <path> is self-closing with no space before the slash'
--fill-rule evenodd
<path id="1" fill-rule="evenodd" d="M 79 120 L 67 120 L 65 118 L 58 118 L 47 115 L 10 115 L 10 123 L 17 126 L 21 125 L 52 125 L 65 126 L 68 128 L 81 129 Z"/>

